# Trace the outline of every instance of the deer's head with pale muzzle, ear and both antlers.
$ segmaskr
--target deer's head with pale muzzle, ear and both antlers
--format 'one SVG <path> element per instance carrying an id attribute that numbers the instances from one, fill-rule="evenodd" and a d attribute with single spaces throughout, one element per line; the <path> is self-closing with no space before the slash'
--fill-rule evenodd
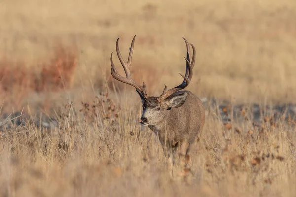
<path id="1" fill-rule="evenodd" d="M 186 88 L 191 81 L 191 78 L 193 75 L 192 69 L 195 64 L 195 48 L 191 44 L 192 49 L 193 49 L 193 56 L 192 56 L 192 61 L 190 62 L 190 45 L 187 42 L 187 40 L 185 38 L 183 38 L 185 40 L 186 48 L 187 48 L 187 57 L 184 57 L 186 60 L 186 73 L 185 73 L 185 76 L 180 74 L 184 78 L 183 82 L 180 85 L 178 85 L 174 88 L 171 88 L 169 90 L 167 89 L 167 86 L 165 85 L 163 93 L 158 97 L 154 97 L 154 96 L 147 95 L 146 85 L 144 82 L 143 82 L 142 86 L 139 85 L 137 82 L 135 82 L 135 80 L 132 79 L 131 74 L 130 74 L 129 68 L 132 63 L 132 55 L 133 55 L 133 51 L 134 51 L 135 38 L 136 38 L 136 35 L 134 36 L 134 38 L 132 40 L 132 44 L 130 47 L 130 52 L 129 52 L 127 62 L 125 62 L 121 56 L 121 53 L 119 51 L 119 46 L 118 46 L 119 45 L 119 38 L 117 39 L 116 52 L 117 52 L 118 58 L 120 60 L 120 63 L 123 66 L 126 77 L 123 77 L 118 74 L 116 67 L 113 63 L 113 59 L 112 59 L 113 53 L 111 53 L 111 57 L 110 57 L 111 67 L 112 67 L 111 68 L 111 75 L 116 80 L 121 81 L 126 84 L 129 84 L 129 85 L 136 88 L 136 91 L 138 92 L 138 94 L 142 100 L 142 104 L 143 104 L 143 106 L 142 106 L 143 113 L 141 116 L 140 123 L 145 126 L 154 127 L 154 126 L 161 124 L 166 119 L 166 117 L 169 115 L 171 109 L 177 109 L 185 103 L 188 93 L 186 91 L 181 91 L 181 90 Z"/>

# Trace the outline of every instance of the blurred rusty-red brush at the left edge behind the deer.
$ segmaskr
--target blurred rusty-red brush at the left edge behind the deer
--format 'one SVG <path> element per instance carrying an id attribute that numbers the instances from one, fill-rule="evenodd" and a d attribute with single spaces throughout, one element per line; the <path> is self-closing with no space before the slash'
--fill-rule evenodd
<path id="1" fill-rule="evenodd" d="M 0 60 L 1 91 L 58 91 L 71 87 L 76 53 L 59 45 L 53 59 L 41 64 L 40 73 L 32 67 L 23 62 L 13 63 L 7 58 Z"/>

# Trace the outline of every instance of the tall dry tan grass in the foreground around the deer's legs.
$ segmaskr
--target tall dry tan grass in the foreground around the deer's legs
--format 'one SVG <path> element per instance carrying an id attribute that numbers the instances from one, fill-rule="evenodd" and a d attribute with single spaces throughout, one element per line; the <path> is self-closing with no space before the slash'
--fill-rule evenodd
<path id="1" fill-rule="evenodd" d="M 161 146 L 125 94 L 59 110 L 54 131 L 33 125 L 0 136 L 1 196 L 295 196 L 296 134 L 286 124 L 224 127 L 209 108 L 192 175 L 171 179 Z"/>

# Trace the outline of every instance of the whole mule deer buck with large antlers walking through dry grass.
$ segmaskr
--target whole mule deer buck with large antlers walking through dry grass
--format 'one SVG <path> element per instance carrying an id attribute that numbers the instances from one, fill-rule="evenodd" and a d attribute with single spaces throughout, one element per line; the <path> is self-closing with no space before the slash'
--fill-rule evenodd
<path id="1" fill-rule="evenodd" d="M 195 48 L 193 49 L 192 61 L 190 62 L 190 45 L 185 38 L 187 57 L 186 60 L 186 73 L 185 76 L 180 74 L 184 80 L 183 82 L 172 88 L 163 90 L 159 97 L 148 96 L 146 92 L 146 85 L 139 85 L 133 80 L 130 73 L 130 66 L 132 63 L 132 55 L 134 51 L 136 35 L 132 40 L 128 61 L 125 62 L 119 51 L 119 38 L 116 41 L 117 56 L 122 64 L 126 77 L 118 74 L 116 67 L 113 63 L 112 54 L 110 57 L 111 62 L 111 75 L 116 80 L 129 84 L 136 88 L 142 100 L 143 113 L 140 123 L 143 126 L 148 126 L 156 135 L 162 145 L 164 154 L 168 157 L 168 167 L 170 174 L 173 175 L 173 165 L 177 151 L 179 152 L 179 159 L 181 157 L 182 166 L 190 169 L 190 148 L 199 139 L 204 122 L 205 122 L 205 109 L 201 100 L 192 92 L 182 90 L 186 88 L 193 75 L 193 67 L 195 64 Z"/>

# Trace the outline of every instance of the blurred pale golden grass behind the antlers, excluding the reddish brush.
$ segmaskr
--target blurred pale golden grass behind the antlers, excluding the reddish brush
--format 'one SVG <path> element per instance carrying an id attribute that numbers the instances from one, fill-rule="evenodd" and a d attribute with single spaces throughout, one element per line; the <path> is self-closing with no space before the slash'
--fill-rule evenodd
<path id="1" fill-rule="evenodd" d="M 74 77 L 79 86 L 81 80 L 102 81 L 116 39 L 126 56 L 137 34 L 134 69 L 140 64 L 164 71 L 159 82 L 173 86 L 184 72 L 186 37 L 197 48 L 194 80 L 201 79 L 192 91 L 240 101 L 293 101 L 295 10 L 292 0 L 7 0 L 0 4 L 0 52 L 34 69 L 53 56 L 56 42 L 73 45 L 80 52 Z M 162 88 L 148 90 L 157 94 Z"/>

